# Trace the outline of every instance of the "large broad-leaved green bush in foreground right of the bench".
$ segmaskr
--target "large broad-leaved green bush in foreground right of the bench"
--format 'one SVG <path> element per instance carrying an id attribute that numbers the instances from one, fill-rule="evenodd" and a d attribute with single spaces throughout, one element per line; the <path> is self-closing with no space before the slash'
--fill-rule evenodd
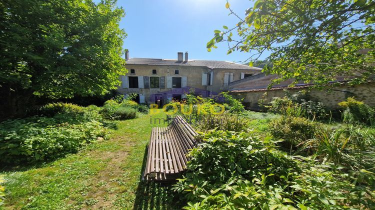
<path id="1" fill-rule="evenodd" d="M 373 206 L 368 186 L 355 187 L 323 167 L 294 160 L 269 140 L 229 131 L 211 131 L 202 139 L 189 153 L 186 174 L 173 186 L 187 201 L 185 209 Z"/>

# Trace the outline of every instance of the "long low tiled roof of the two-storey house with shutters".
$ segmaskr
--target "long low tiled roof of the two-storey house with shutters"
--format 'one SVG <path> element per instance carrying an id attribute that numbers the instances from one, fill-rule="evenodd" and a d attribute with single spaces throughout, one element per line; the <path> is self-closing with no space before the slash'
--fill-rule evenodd
<path id="1" fill-rule="evenodd" d="M 244 70 L 261 70 L 258 67 L 250 67 L 240 63 L 221 61 L 221 60 L 188 60 L 177 61 L 175 59 L 159 59 L 159 58 L 129 58 L 126 60 L 126 64 L 134 65 L 178 65 L 178 66 L 203 66 L 211 69 L 223 68 L 223 69 L 244 69 Z"/>

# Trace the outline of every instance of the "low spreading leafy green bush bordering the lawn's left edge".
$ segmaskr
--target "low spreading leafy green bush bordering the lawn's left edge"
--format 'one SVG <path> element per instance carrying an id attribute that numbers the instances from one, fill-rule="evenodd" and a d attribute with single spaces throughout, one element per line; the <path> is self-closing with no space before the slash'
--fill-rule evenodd
<path id="1" fill-rule="evenodd" d="M 1 162 L 19 163 L 55 158 L 106 137 L 98 121 L 57 123 L 48 117 L 9 119 L 0 123 Z"/>

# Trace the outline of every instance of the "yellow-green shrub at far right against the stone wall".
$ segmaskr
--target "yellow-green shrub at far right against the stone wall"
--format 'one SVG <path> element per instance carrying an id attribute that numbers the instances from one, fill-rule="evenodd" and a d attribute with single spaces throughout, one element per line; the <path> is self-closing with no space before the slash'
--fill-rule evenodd
<path id="1" fill-rule="evenodd" d="M 375 109 L 363 101 L 348 97 L 346 101 L 339 102 L 338 105 L 344 109 L 342 112 L 344 122 L 364 123 L 367 125 L 372 125 L 375 122 Z"/>

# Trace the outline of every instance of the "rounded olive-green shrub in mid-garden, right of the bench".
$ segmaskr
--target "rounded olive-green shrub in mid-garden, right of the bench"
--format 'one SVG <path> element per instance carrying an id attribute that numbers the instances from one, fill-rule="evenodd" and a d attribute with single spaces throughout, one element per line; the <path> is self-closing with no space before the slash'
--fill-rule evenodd
<path id="1" fill-rule="evenodd" d="M 269 131 L 275 139 L 283 139 L 284 148 L 291 149 L 314 137 L 317 125 L 303 117 L 281 116 L 269 123 Z"/>

